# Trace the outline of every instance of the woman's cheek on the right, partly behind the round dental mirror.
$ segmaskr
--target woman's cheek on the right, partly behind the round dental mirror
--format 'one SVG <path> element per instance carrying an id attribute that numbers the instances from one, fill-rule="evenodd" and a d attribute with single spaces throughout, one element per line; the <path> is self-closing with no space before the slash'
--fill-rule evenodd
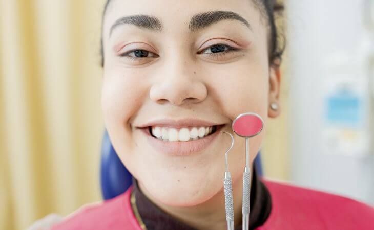
<path id="1" fill-rule="evenodd" d="M 244 63 L 237 63 L 235 67 L 232 67 L 232 71 L 228 74 L 227 71 L 215 70 L 213 76 L 216 80 L 212 81 L 214 82 L 211 88 L 213 97 L 216 98 L 217 103 L 220 103 L 219 106 L 226 117 L 234 120 L 241 113 L 255 112 L 264 121 L 261 133 L 250 140 L 251 162 L 261 148 L 267 130 L 269 73 L 265 64 L 261 61 L 250 62 L 245 60 Z M 234 177 L 239 179 L 245 165 L 244 138 L 235 135 L 235 145 L 232 152 L 237 153 L 229 156 L 232 164 L 236 166 L 232 168 L 233 179 Z"/>

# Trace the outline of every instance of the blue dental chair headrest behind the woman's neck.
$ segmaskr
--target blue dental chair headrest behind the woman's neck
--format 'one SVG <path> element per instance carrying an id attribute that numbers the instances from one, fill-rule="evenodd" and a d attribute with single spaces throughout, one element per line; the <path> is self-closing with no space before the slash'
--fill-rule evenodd
<path id="1" fill-rule="evenodd" d="M 255 158 L 254 164 L 257 174 L 262 176 L 260 153 Z M 100 184 L 102 197 L 105 200 L 126 192 L 132 184 L 132 175 L 118 158 L 107 131 L 105 131 L 102 139 Z"/>

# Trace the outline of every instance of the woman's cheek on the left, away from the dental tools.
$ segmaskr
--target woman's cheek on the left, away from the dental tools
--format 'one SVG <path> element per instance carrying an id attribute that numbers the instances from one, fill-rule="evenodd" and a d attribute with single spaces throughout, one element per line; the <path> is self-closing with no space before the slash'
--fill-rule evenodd
<path id="1" fill-rule="evenodd" d="M 101 106 L 106 129 L 116 152 L 131 152 L 133 136 L 130 119 L 147 97 L 147 86 L 141 76 L 133 71 L 113 68 L 105 72 L 101 94 Z"/>

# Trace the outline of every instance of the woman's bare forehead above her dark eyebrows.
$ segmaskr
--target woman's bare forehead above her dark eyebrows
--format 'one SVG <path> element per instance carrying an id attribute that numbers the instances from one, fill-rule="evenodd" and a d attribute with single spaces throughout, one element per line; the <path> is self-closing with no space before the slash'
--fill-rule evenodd
<path id="1" fill-rule="evenodd" d="M 253 31 L 259 27 L 260 12 L 251 0 L 111 0 L 103 21 L 103 34 L 109 35 L 120 18 L 132 15 L 154 17 L 157 19 L 154 22 L 160 22 L 162 32 L 194 33 L 196 31 L 191 30 L 194 16 L 212 11 L 232 12 L 238 19 L 235 24 L 244 26 L 247 22 L 246 26 Z M 226 20 L 226 23 L 228 21 L 232 25 L 234 20 Z"/>

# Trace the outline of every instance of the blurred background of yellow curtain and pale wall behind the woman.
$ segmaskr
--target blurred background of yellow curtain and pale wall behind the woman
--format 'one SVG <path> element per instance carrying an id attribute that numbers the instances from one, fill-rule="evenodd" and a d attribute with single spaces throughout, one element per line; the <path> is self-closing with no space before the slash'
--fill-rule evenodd
<path id="1" fill-rule="evenodd" d="M 104 0 L 0 0 L 0 229 L 102 200 Z M 374 204 L 374 1 L 287 0 L 266 177 Z"/>

